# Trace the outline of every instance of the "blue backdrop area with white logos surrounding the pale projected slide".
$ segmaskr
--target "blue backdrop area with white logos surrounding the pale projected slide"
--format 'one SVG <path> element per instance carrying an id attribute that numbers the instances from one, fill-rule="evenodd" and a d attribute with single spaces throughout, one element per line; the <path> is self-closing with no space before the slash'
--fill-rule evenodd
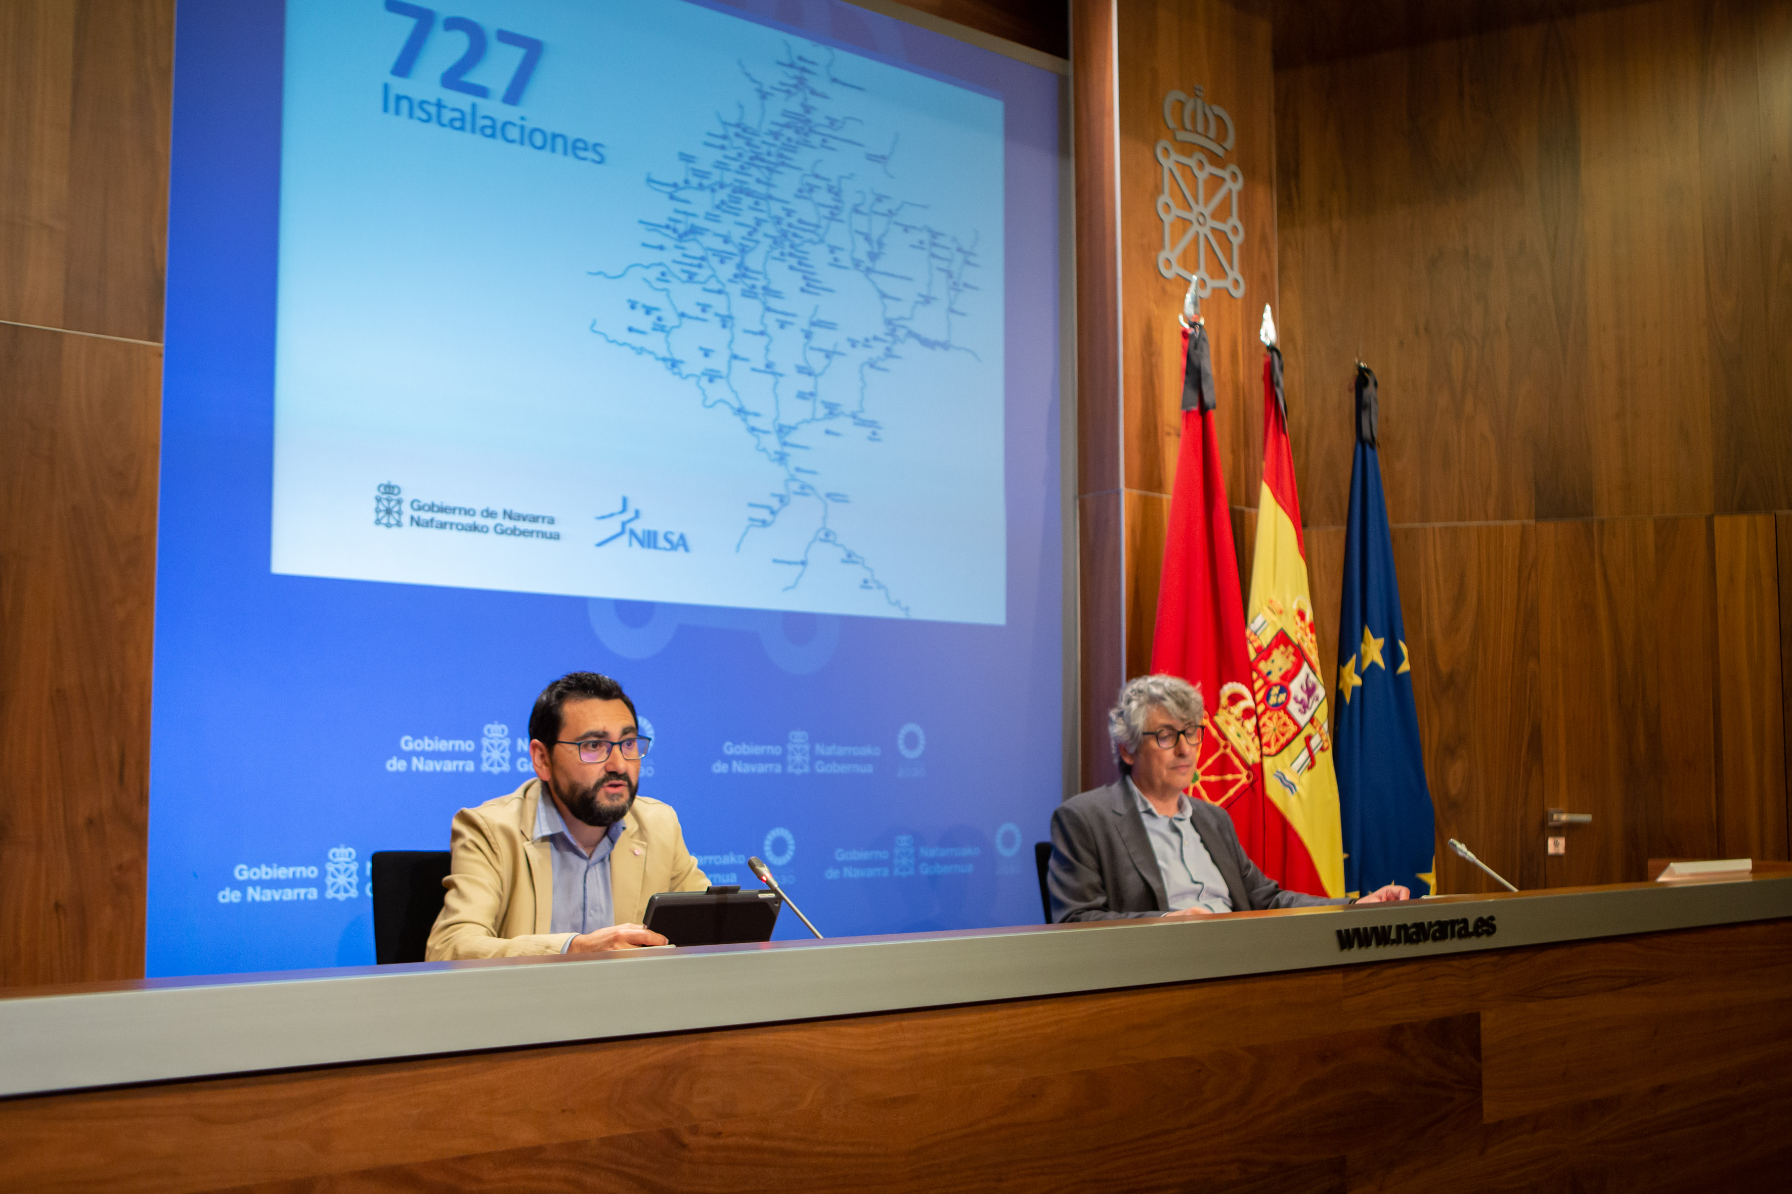
<path id="1" fill-rule="evenodd" d="M 376 0 L 369 0 L 373 4 Z M 756 20 L 788 4 L 711 4 Z M 452 9 L 450 9 L 452 11 Z M 1057 376 L 1059 77 L 844 4 L 799 32 L 995 91 L 1007 109 L 1007 625 L 668 607 L 269 571 L 281 5 L 183 0 L 163 385 L 151 755 L 151 976 L 373 961 L 366 859 L 444 849 L 453 811 L 527 773 L 418 775 L 401 736 L 527 734 L 552 677 L 624 680 L 652 721 L 652 775 L 697 854 L 765 854 L 830 934 L 1032 924 L 1030 843 L 1063 789 Z M 371 508 L 369 508 L 371 516 Z M 602 628 L 602 634 L 599 634 Z M 633 630 L 631 630 L 633 628 Z M 831 644 L 831 646 L 830 646 Z M 783 661 L 780 664 L 780 661 Z M 794 668 L 794 669 L 792 669 Z M 925 750 L 905 759 L 898 730 Z M 715 775 L 722 743 L 864 743 L 874 775 Z M 912 739 L 910 739 L 912 741 Z M 432 757 L 466 757 L 480 754 Z M 898 777 L 898 766 L 925 775 Z M 998 831 L 1014 825 L 1018 834 Z M 957 856 L 968 875 L 828 879 L 837 850 Z M 357 895 L 323 899 L 332 849 Z M 1016 849 L 1018 847 L 1018 849 Z M 926 863 L 925 857 L 918 859 Z M 315 866 L 315 879 L 233 868 Z M 857 863 L 889 866 L 889 861 Z M 744 868 L 740 879 L 751 884 Z M 310 886 L 305 902 L 222 890 Z M 780 938 L 803 934 L 792 917 Z"/>

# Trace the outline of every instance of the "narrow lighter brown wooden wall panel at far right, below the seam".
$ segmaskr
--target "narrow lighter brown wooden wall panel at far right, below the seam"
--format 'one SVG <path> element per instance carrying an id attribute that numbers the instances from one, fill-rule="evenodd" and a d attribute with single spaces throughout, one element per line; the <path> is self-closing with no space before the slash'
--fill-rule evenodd
<path id="1" fill-rule="evenodd" d="M 1717 820 L 1724 857 L 1785 859 L 1779 564 L 1767 514 L 1717 517 Z"/>

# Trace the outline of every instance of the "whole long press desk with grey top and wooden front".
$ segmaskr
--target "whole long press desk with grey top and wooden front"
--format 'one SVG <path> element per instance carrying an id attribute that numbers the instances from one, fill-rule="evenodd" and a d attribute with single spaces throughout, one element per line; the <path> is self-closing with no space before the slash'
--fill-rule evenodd
<path id="1" fill-rule="evenodd" d="M 1792 874 L 13 990 L 0 1094 L 7 1189 L 1760 1189 Z"/>

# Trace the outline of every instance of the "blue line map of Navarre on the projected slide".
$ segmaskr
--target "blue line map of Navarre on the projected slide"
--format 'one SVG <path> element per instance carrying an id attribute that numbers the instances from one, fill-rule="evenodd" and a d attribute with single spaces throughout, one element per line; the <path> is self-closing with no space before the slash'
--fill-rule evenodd
<path id="1" fill-rule="evenodd" d="M 842 526 L 842 512 L 855 467 L 909 462 L 831 440 L 887 444 L 883 421 L 905 412 L 867 383 L 900 380 L 910 356 L 977 360 L 961 328 L 982 285 L 978 233 L 939 227 L 905 197 L 901 134 L 867 143 L 851 113 L 864 90 L 810 50 L 742 63 L 745 98 L 645 181 L 659 209 L 640 222 L 643 260 L 595 274 L 591 331 L 659 362 L 778 469 L 780 483 L 744 503 L 735 551 L 769 555 L 785 589 L 846 569 L 907 616 L 912 598 L 878 575 L 876 537 Z"/>

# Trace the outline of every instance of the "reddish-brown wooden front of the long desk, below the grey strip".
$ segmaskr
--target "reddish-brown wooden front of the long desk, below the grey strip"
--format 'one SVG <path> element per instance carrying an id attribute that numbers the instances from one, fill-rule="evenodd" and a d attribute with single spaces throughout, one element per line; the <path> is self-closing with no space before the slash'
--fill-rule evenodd
<path id="1" fill-rule="evenodd" d="M 1792 879 L 1756 884 L 1778 908 Z M 1541 897 L 1462 897 L 1505 920 L 1529 899 Z M 1448 902 L 1417 908 L 1439 918 Z M 1367 909 L 1317 917 L 1331 931 Z M 858 965 L 878 965 L 876 945 L 857 947 Z M 593 1035 L 627 1019 L 577 1011 Z M 1785 1189 L 1788 1122 L 1792 918 L 1779 913 L 22 1096 L 0 1101 L 0 1173 L 7 1189 L 116 1192 L 1753 1190 Z"/>

